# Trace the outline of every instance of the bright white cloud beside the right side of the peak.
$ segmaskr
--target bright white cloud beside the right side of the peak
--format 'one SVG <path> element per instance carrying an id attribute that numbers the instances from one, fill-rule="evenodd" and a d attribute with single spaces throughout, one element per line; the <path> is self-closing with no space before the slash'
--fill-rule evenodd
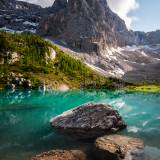
<path id="1" fill-rule="evenodd" d="M 137 0 L 107 0 L 108 5 L 113 12 L 117 13 L 130 29 L 133 21 L 138 20 L 137 17 L 130 17 L 128 13 L 139 8 Z"/>

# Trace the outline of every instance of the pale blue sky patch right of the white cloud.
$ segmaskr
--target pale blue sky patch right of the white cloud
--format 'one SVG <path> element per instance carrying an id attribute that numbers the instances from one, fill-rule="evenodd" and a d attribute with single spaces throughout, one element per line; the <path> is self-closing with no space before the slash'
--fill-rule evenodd
<path id="1" fill-rule="evenodd" d="M 131 29 L 139 31 L 153 31 L 160 29 L 160 0 L 138 0 L 139 8 L 128 15 L 136 17 Z"/>

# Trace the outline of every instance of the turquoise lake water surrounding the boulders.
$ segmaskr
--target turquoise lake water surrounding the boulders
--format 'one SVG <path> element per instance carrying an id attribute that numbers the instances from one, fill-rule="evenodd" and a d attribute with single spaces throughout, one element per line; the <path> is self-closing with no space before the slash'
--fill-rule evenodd
<path id="1" fill-rule="evenodd" d="M 143 139 L 149 159 L 160 159 L 160 93 L 0 91 L 0 160 L 29 160 L 43 151 L 81 146 L 56 133 L 49 120 L 89 101 L 117 109 L 128 124 L 120 134 Z"/>

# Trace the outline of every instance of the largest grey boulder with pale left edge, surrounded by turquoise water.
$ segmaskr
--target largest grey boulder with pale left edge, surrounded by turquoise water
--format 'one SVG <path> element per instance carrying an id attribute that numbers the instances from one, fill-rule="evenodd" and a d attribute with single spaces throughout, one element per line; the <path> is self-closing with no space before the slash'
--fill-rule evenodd
<path id="1" fill-rule="evenodd" d="M 97 138 L 126 127 L 118 111 L 105 104 L 87 103 L 51 119 L 51 125 L 79 139 Z"/>

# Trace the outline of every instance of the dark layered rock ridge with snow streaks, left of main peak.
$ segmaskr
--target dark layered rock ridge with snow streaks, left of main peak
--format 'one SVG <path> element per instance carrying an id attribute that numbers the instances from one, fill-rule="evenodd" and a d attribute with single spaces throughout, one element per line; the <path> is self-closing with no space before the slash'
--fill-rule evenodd
<path id="1" fill-rule="evenodd" d="M 15 0 L 0 1 L 0 30 L 35 33 L 44 10 L 34 4 Z"/>

